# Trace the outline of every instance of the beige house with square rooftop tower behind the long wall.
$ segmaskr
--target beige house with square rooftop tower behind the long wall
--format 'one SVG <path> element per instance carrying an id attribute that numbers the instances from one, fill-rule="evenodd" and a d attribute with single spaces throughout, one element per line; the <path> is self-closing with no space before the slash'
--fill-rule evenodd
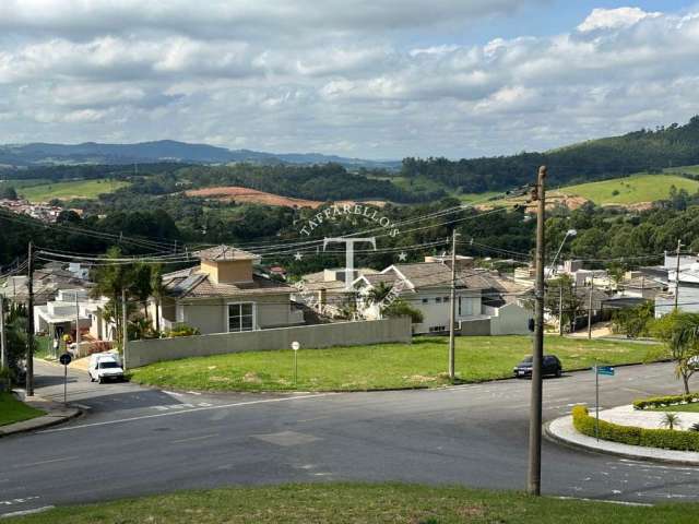
<path id="1" fill-rule="evenodd" d="M 295 289 L 254 273 L 259 257 L 230 246 L 193 254 L 199 265 L 163 275 L 161 307 L 150 307 L 163 329 L 187 324 L 209 334 L 304 323 L 291 300 Z"/>

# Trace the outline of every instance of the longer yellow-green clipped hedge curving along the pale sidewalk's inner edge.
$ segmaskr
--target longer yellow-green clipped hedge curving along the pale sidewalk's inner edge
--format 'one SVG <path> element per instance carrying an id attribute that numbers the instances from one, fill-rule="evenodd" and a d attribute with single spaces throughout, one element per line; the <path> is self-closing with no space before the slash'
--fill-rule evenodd
<path id="1" fill-rule="evenodd" d="M 582 434 L 595 437 L 595 417 L 585 406 L 572 408 L 572 424 Z M 621 444 L 662 448 L 664 450 L 699 451 L 699 432 L 672 429 L 647 429 L 600 420 L 600 438 Z"/>

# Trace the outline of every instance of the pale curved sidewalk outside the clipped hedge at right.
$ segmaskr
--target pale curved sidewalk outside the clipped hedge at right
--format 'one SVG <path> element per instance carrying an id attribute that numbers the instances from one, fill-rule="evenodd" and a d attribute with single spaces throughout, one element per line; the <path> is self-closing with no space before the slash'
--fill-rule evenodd
<path id="1" fill-rule="evenodd" d="M 604 412 L 600 412 L 601 419 L 603 418 L 603 413 Z M 683 413 L 680 415 L 689 414 Z M 627 422 L 627 425 L 629 424 Z M 653 427 L 657 428 L 657 425 Z M 659 448 L 644 448 L 640 445 L 620 444 L 606 440 L 597 440 L 594 437 L 588 437 L 587 434 L 579 433 L 572 425 L 571 415 L 557 418 L 546 424 L 546 426 L 544 427 L 544 432 L 549 440 L 573 448 L 580 448 L 587 451 L 609 453 L 612 455 L 618 455 L 626 458 L 635 458 L 640 461 L 657 461 L 671 464 L 699 466 L 699 452 L 661 450 Z"/>

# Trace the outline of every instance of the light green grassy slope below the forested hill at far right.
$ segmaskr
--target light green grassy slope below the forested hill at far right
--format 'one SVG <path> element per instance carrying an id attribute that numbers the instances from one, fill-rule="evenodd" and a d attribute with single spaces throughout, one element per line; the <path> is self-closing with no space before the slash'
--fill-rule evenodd
<path id="1" fill-rule="evenodd" d="M 601 182 L 581 183 L 561 188 L 566 194 L 574 194 L 591 200 L 595 204 L 636 204 L 654 202 L 670 195 L 671 186 L 694 194 L 699 182 L 676 175 L 633 175 Z M 618 194 L 614 194 L 618 191 Z"/>

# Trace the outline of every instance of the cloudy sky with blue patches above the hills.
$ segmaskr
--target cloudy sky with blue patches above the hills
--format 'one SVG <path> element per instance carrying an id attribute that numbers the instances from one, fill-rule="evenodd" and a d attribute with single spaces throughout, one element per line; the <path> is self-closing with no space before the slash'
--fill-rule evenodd
<path id="1" fill-rule="evenodd" d="M 699 114 L 699 2 L 2 0 L 0 143 L 544 151 Z"/>

